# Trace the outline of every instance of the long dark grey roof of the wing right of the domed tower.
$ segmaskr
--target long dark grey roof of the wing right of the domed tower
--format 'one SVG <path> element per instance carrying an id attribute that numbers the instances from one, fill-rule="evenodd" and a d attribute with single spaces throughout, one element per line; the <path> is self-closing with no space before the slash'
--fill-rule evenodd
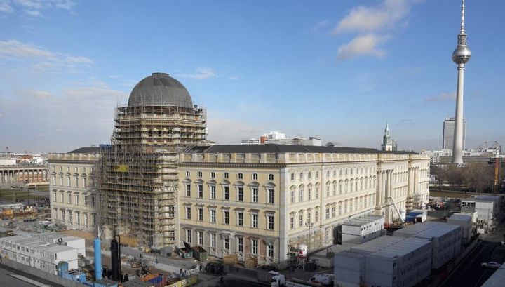
<path id="1" fill-rule="evenodd" d="M 379 149 L 368 147 L 319 147 L 314 145 L 212 145 L 210 147 L 194 147 L 191 154 L 246 154 L 246 153 L 333 153 L 333 154 L 380 154 Z M 416 152 L 387 152 L 393 154 L 417 154 Z"/>

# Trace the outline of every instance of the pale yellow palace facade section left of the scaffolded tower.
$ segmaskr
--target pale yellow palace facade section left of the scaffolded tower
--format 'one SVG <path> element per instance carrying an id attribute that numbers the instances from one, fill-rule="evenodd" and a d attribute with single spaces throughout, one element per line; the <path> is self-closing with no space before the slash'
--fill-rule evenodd
<path id="1" fill-rule="evenodd" d="M 51 220 L 95 231 L 98 197 L 93 189 L 99 154 L 49 154 Z"/>

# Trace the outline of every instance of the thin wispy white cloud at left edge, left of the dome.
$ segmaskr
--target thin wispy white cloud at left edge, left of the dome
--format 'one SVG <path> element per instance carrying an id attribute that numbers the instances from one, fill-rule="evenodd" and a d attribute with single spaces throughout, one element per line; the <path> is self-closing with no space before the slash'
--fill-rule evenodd
<path id="1" fill-rule="evenodd" d="M 36 73 L 76 73 L 80 72 L 80 67 L 89 67 L 94 63 L 90 58 L 48 51 L 17 40 L 0 41 L 0 64 L 8 61 L 15 62 L 16 69 L 25 68 Z M 1 66 L 6 65 L 0 65 L 0 69 Z"/>

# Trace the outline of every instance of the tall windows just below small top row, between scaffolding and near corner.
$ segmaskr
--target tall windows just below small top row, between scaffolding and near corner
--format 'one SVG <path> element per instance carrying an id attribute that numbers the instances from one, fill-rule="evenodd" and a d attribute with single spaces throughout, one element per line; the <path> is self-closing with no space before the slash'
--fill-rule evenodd
<path id="1" fill-rule="evenodd" d="M 208 190 L 208 198 L 209 199 L 217 199 L 217 194 L 216 194 L 216 186 L 215 185 L 208 185 L 209 190 Z M 236 186 L 235 187 L 235 200 L 236 201 L 244 201 L 244 187 L 243 186 Z M 222 192 L 222 197 L 221 199 L 224 201 L 229 201 L 230 200 L 230 190 L 229 190 L 229 185 L 221 185 L 221 192 Z M 191 184 L 187 183 L 186 184 L 186 196 L 191 197 Z M 196 184 L 196 197 L 199 199 L 204 198 L 204 188 L 203 184 L 197 183 Z M 274 199 L 275 199 L 275 192 L 273 187 L 268 187 L 267 188 L 267 203 L 269 204 L 274 204 Z M 260 190 L 258 187 L 250 187 L 250 202 L 253 203 L 259 203 L 260 202 Z"/>

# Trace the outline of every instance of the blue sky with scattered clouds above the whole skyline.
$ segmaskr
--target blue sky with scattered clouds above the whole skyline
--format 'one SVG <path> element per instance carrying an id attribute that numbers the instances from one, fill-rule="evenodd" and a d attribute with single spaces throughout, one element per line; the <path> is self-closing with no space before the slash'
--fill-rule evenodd
<path id="1" fill-rule="evenodd" d="M 269 131 L 440 149 L 454 115 L 459 0 L 0 0 L 0 147 L 109 142 L 114 108 L 167 72 L 208 111 L 208 138 Z M 505 1 L 466 1 L 467 147 L 505 144 Z"/>

